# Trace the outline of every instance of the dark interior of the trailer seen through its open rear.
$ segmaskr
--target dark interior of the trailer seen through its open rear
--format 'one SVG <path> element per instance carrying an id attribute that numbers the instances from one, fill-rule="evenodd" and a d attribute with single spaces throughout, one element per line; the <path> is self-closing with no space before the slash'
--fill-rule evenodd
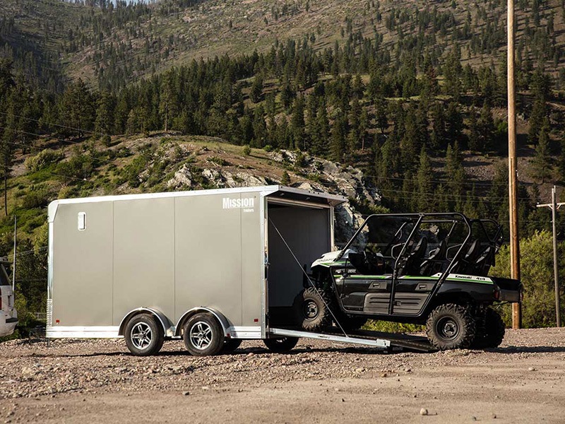
<path id="1" fill-rule="evenodd" d="M 309 273 L 311 263 L 331 250 L 331 209 L 270 202 L 268 218 L 268 305 L 273 312 L 292 306 L 303 288 L 302 266 Z"/>

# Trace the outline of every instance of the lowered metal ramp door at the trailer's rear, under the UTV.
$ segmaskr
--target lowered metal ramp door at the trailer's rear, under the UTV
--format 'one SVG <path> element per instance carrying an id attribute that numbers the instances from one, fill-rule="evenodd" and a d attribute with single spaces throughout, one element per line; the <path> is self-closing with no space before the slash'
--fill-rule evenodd
<path id="1" fill-rule="evenodd" d="M 320 340 L 335 341 L 338 343 L 352 343 L 362 346 L 381 348 L 383 351 L 408 350 L 418 352 L 433 352 L 435 349 L 425 337 L 410 334 L 381 333 L 380 331 L 357 330 L 350 331 L 347 336 L 340 332 L 338 327 L 331 327 L 327 331 L 314 333 L 295 327 L 272 328 L 270 333 L 275 336 L 318 338 Z"/>

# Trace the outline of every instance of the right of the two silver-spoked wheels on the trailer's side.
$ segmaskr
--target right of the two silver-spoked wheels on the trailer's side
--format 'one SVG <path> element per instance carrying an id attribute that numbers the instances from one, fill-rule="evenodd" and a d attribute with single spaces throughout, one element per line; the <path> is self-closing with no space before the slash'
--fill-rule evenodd
<path id="1" fill-rule="evenodd" d="M 193 315 L 184 324 L 182 338 L 186 350 L 194 356 L 217 355 L 224 346 L 224 332 L 212 314 Z"/>

